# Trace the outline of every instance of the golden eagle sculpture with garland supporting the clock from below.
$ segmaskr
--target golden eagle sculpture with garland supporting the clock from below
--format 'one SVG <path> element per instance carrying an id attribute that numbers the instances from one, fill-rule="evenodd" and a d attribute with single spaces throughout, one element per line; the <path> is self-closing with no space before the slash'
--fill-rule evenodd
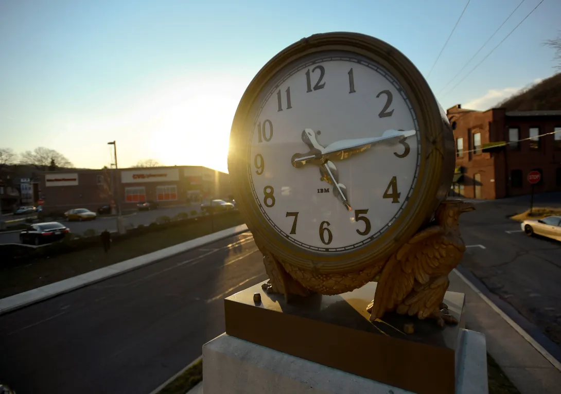
<path id="1" fill-rule="evenodd" d="M 275 258 L 255 239 L 269 275 L 263 289 L 267 293 L 282 293 L 288 301 L 289 294 L 341 294 L 378 281 L 374 300 L 367 308 L 371 321 L 395 311 L 420 319 L 432 318 L 440 326 L 457 323 L 443 300 L 449 285 L 448 274 L 458 266 L 466 251 L 459 232 L 459 216 L 474 209 L 471 202 L 444 200 L 436 209 L 434 220 L 389 258 L 373 261 L 358 272 L 304 271 Z"/>

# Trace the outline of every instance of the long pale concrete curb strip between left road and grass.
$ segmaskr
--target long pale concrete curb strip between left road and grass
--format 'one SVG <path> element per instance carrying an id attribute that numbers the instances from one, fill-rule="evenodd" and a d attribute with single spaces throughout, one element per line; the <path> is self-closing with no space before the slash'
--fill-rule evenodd
<path id="1" fill-rule="evenodd" d="M 168 248 L 160 249 L 152 253 L 144 254 L 139 257 L 131 258 L 111 266 L 98 268 L 97 270 L 86 272 L 85 274 L 70 277 L 65 280 L 51 283 L 40 288 L 24 291 L 11 295 L 6 298 L 0 299 L 0 315 L 11 312 L 12 310 L 26 307 L 27 305 L 52 298 L 59 294 L 68 293 L 72 290 L 83 288 L 95 282 L 100 282 L 109 279 L 113 276 L 125 274 L 128 271 L 136 270 L 137 268 L 161 261 L 165 258 L 174 256 L 179 253 L 190 251 L 191 249 L 199 248 L 203 245 L 216 242 L 218 240 L 233 237 L 247 231 L 247 225 L 231 227 L 226 230 L 217 231 L 213 234 L 204 235 L 203 237 L 191 239 Z"/>

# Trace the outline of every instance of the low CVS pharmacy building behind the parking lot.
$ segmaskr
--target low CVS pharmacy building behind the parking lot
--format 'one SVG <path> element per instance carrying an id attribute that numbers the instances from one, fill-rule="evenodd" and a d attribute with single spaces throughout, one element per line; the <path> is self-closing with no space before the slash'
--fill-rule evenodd
<path id="1" fill-rule="evenodd" d="M 112 200 L 130 210 L 139 201 L 171 206 L 232 193 L 228 174 L 203 166 L 48 171 L 39 187 L 45 211 L 94 211 Z"/>

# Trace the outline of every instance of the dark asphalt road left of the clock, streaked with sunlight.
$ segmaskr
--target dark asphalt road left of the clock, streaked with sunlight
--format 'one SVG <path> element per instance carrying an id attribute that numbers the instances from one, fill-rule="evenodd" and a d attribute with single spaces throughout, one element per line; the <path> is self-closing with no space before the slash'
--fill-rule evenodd
<path id="1" fill-rule="evenodd" d="M 149 393 L 224 332 L 223 298 L 265 280 L 262 259 L 246 233 L 2 315 L 0 381 Z"/>

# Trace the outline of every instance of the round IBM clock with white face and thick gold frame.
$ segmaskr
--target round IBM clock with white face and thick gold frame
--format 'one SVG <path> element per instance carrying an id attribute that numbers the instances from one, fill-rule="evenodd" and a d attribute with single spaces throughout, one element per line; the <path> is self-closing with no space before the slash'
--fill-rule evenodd
<path id="1" fill-rule="evenodd" d="M 228 170 L 278 289 L 338 294 L 373 280 L 429 223 L 454 160 L 448 119 L 411 61 L 371 36 L 327 33 L 251 81 Z"/>

